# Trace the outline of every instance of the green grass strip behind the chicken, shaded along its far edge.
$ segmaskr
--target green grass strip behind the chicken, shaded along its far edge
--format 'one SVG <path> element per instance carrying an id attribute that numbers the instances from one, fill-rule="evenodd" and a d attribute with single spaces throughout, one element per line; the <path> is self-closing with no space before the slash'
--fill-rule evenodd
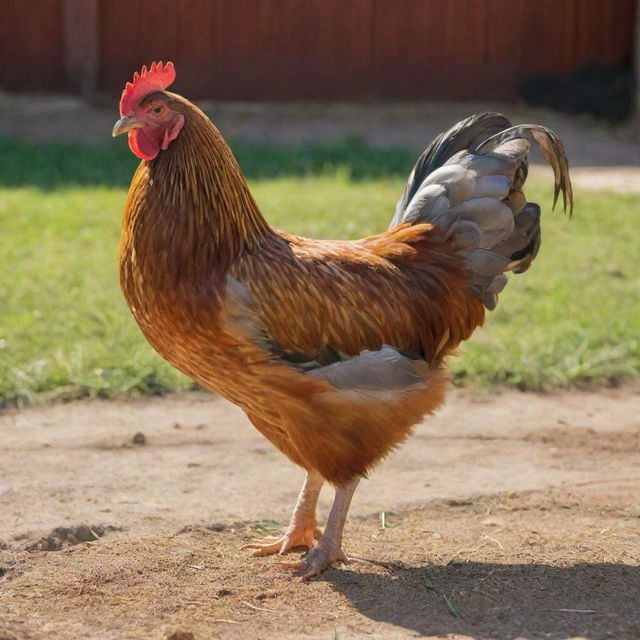
<path id="1" fill-rule="evenodd" d="M 0 405 L 192 384 L 147 345 L 119 291 L 135 166 L 119 142 L 0 143 Z M 235 149 L 270 222 L 322 238 L 384 229 L 414 160 L 357 141 Z M 540 390 L 636 377 L 640 198 L 578 192 L 569 220 L 549 210 L 548 182 L 528 195 L 543 205 L 542 250 L 452 359 L 456 380 Z"/>

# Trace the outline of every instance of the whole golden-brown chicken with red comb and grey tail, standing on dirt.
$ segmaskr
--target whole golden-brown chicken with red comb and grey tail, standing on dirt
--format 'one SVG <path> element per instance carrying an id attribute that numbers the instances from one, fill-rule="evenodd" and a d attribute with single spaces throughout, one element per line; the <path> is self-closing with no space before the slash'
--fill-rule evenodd
<path id="1" fill-rule="evenodd" d="M 216 127 L 166 91 L 174 79 L 172 63 L 134 74 L 113 130 L 142 160 L 123 218 L 122 290 L 162 357 L 306 470 L 285 533 L 249 547 L 306 547 L 290 566 L 309 578 L 348 561 L 342 531 L 359 480 L 442 404 L 447 356 L 495 307 L 505 273 L 535 258 L 540 209 L 522 191 L 530 143 L 565 210 L 567 160 L 544 127 L 472 116 L 420 156 L 387 231 L 296 237 L 269 226 Z M 325 481 L 335 501 L 321 533 Z"/>

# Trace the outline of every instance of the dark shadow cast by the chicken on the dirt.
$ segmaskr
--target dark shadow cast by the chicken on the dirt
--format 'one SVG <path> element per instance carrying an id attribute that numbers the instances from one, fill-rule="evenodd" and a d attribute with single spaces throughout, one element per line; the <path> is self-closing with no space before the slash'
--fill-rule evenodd
<path id="1" fill-rule="evenodd" d="M 321 578 L 363 616 L 425 636 L 640 638 L 640 566 L 479 562 Z"/>

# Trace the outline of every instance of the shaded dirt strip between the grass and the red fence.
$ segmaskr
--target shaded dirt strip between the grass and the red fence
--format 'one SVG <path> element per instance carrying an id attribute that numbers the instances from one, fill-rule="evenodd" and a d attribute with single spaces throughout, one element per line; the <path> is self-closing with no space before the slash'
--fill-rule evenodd
<path id="1" fill-rule="evenodd" d="M 472 113 L 501 111 L 515 123 L 536 122 L 562 139 L 578 189 L 640 193 L 640 122 L 611 127 L 587 117 L 522 105 L 482 103 L 200 103 L 231 140 L 299 144 L 359 137 L 374 146 L 419 154 L 441 131 Z M 0 92 L 0 136 L 31 141 L 105 142 L 117 117 L 114 100 L 87 105 L 70 96 Z M 534 156 L 533 171 L 550 176 Z"/>

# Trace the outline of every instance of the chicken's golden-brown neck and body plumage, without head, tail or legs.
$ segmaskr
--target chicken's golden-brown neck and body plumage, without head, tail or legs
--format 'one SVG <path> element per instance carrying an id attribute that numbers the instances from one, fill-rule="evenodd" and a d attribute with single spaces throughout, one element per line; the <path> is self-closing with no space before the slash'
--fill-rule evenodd
<path id="1" fill-rule="evenodd" d="M 217 129 L 167 96 L 184 128 L 138 167 L 123 220 L 120 277 L 137 322 L 297 464 L 334 483 L 366 473 L 440 405 L 443 358 L 483 321 L 463 259 L 427 223 L 356 242 L 276 232 Z M 393 355 L 391 387 L 359 382 L 361 353 L 392 377 Z M 335 375 L 346 361 L 352 383 Z"/>

